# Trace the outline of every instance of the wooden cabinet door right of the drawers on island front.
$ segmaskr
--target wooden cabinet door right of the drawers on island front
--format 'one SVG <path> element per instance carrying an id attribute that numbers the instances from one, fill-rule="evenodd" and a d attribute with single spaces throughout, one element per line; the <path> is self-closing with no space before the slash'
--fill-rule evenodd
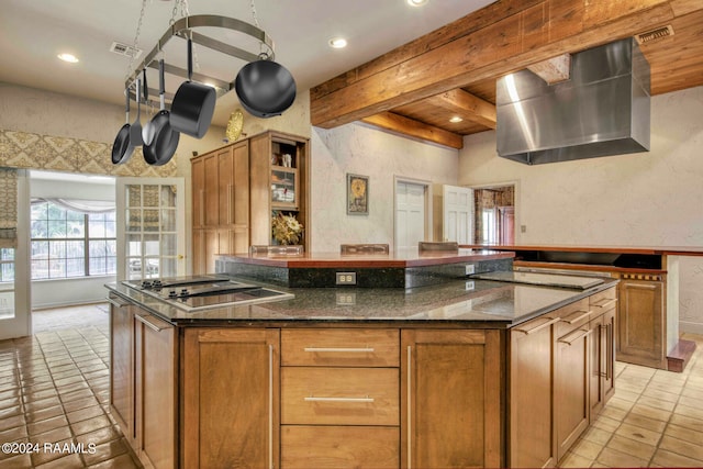
<path id="1" fill-rule="evenodd" d="M 402 331 L 402 467 L 504 466 L 501 349 L 499 331 Z"/>

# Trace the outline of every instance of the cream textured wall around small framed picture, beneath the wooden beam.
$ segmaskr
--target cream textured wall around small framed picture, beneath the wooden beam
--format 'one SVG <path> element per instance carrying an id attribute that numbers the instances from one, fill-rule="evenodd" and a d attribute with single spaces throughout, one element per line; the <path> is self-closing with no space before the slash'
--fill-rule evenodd
<path id="1" fill-rule="evenodd" d="M 456 149 L 414 142 L 362 124 L 312 133 L 312 250 L 342 243 L 393 245 L 394 177 L 457 183 Z M 369 176 L 369 214 L 347 215 L 346 174 Z"/>

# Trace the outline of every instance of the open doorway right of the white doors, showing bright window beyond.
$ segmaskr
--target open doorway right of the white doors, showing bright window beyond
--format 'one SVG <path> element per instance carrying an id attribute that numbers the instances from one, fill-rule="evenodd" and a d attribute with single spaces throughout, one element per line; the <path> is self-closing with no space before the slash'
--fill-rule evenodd
<path id="1" fill-rule="evenodd" d="M 473 187 L 476 244 L 515 244 L 515 185 Z"/>

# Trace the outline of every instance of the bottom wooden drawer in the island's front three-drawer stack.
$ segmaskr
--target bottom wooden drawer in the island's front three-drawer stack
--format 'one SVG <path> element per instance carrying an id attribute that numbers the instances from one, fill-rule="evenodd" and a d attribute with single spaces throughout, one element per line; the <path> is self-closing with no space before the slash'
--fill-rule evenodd
<path id="1" fill-rule="evenodd" d="M 384 426 L 281 427 L 281 468 L 398 468 L 400 431 Z"/>

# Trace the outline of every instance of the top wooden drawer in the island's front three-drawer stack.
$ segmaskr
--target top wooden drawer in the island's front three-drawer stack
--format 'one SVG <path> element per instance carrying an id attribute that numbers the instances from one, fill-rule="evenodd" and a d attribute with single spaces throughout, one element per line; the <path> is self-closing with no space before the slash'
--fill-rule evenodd
<path id="1" fill-rule="evenodd" d="M 281 364 L 309 367 L 398 367 L 398 330 L 281 331 Z"/>

